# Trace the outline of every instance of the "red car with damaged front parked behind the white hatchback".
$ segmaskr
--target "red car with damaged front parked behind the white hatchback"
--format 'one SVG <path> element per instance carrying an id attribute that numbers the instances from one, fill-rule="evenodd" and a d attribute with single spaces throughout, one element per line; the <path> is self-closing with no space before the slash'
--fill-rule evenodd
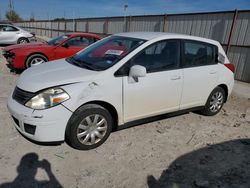
<path id="1" fill-rule="evenodd" d="M 37 42 L 5 47 L 3 56 L 6 58 L 7 66 L 10 69 L 23 70 L 46 61 L 72 56 L 100 39 L 95 34 L 67 33 L 47 43 Z"/>

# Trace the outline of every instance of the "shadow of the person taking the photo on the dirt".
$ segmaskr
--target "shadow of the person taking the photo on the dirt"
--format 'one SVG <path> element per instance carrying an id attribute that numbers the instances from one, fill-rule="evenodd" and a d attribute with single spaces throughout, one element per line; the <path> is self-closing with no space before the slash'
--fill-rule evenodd
<path id="1" fill-rule="evenodd" d="M 35 179 L 38 168 L 45 170 L 49 177 L 48 181 L 38 181 Z M 52 173 L 49 161 L 46 159 L 39 161 L 36 153 L 24 155 L 17 167 L 17 172 L 18 175 L 13 182 L 3 183 L 0 185 L 0 188 L 62 187 Z"/>

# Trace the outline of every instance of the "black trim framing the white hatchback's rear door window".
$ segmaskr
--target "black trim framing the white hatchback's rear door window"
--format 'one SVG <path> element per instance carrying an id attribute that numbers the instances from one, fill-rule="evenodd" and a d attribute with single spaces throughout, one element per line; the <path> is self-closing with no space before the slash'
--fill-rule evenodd
<path id="1" fill-rule="evenodd" d="M 185 58 L 184 58 L 184 43 L 185 42 L 192 42 L 192 43 L 198 43 L 198 44 L 203 44 L 203 45 L 210 45 L 215 47 L 215 54 L 214 54 L 214 63 L 212 64 L 204 64 L 204 65 L 193 65 L 193 66 L 187 66 L 185 65 Z M 218 64 L 218 53 L 219 53 L 219 49 L 218 46 L 208 43 L 208 42 L 203 42 L 203 41 L 199 41 L 199 40 L 194 40 L 194 39 L 181 39 L 181 63 L 180 63 L 180 67 L 181 68 L 193 68 L 193 67 L 203 67 L 203 66 L 210 66 L 210 65 L 216 65 Z"/>

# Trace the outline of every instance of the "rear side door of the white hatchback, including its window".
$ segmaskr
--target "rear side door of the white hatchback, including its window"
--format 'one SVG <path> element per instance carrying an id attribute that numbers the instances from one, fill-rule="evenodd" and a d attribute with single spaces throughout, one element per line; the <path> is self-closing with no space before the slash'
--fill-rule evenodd
<path id="1" fill-rule="evenodd" d="M 203 106 L 216 87 L 218 79 L 218 49 L 215 45 L 182 41 L 183 91 L 181 109 Z"/>

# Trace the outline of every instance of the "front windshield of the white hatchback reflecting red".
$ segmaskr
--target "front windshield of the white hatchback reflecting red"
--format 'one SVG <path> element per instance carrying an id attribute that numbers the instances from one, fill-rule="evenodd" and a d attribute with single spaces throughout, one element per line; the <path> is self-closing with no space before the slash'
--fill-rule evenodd
<path id="1" fill-rule="evenodd" d="M 67 58 L 69 63 L 95 71 L 106 70 L 143 44 L 145 40 L 111 36 Z"/>

